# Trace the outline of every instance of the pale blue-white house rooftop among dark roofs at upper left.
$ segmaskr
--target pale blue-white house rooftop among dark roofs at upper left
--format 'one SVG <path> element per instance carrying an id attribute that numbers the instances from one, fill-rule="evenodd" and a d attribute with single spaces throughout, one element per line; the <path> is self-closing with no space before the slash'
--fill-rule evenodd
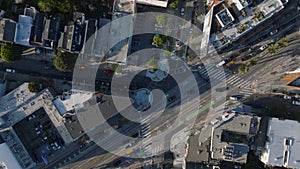
<path id="1" fill-rule="evenodd" d="M 33 26 L 33 18 L 26 15 L 19 15 L 19 20 L 16 29 L 15 43 L 30 46 L 30 34 Z"/>

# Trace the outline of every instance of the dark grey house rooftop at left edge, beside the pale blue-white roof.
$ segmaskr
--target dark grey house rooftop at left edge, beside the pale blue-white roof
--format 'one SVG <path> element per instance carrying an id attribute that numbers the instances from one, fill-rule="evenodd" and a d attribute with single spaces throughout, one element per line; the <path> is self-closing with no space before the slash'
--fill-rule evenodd
<path id="1" fill-rule="evenodd" d="M 11 19 L 0 20 L 0 41 L 14 42 L 17 23 Z"/>

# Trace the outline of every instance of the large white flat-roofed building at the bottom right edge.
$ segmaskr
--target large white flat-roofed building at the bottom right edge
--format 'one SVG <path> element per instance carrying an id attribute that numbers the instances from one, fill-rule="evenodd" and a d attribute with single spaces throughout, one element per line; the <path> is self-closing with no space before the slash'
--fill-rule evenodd
<path id="1" fill-rule="evenodd" d="M 269 166 L 300 168 L 300 124 L 271 118 L 267 142 L 260 160 Z"/>

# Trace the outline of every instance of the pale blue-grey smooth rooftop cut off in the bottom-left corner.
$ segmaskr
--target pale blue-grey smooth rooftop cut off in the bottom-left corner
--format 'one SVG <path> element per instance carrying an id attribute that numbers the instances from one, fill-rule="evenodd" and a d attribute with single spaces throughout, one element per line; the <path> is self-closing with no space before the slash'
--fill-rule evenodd
<path id="1" fill-rule="evenodd" d="M 22 169 L 14 154 L 6 143 L 0 144 L 0 168 L 1 169 Z"/>

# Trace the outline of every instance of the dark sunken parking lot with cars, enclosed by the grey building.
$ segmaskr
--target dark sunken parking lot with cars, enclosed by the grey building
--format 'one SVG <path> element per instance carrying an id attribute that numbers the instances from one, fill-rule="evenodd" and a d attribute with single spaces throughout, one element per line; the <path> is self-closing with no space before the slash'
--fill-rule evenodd
<path id="1" fill-rule="evenodd" d="M 53 156 L 64 145 L 43 108 L 15 124 L 13 128 L 34 161 L 42 162 L 43 158 Z"/>

